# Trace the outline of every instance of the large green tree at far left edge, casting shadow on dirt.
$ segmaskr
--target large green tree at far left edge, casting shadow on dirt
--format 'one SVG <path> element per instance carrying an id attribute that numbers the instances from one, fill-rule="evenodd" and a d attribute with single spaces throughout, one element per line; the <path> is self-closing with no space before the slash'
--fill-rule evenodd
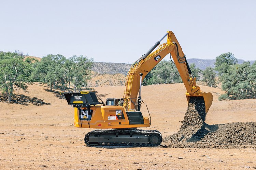
<path id="1" fill-rule="evenodd" d="M 0 89 L 12 101 L 13 90 L 27 91 L 31 65 L 17 53 L 0 53 Z"/>

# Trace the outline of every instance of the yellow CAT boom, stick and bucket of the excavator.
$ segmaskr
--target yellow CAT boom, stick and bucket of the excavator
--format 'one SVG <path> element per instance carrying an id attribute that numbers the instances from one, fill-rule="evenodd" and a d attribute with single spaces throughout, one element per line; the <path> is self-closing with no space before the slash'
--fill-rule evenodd
<path id="1" fill-rule="evenodd" d="M 160 41 L 166 36 L 167 43 L 163 43 L 159 46 Z M 191 74 L 186 57 L 174 33 L 172 31 L 168 31 L 163 38 L 160 41 L 157 41 L 157 43 L 146 54 L 133 63 L 127 74 L 123 97 L 126 101 L 130 102 L 124 103 L 123 107 L 127 110 L 132 110 L 136 107 L 136 105 L 132 103 L 135 102 L 138 96 L 142 80 L 148 72 L 150 72 L 167 54 L 170 53 L 186 87 L 187 101 L 189 102 L 190 97 L 203 97 L 205 102 L 205 112 L 207 113 L 213 101 L 212 94 L 210 92 L 202 92 L 200 87 L 196 85 L 196 78 L 193 78 Z M 159 48 L 152 52 L 157 46 L 159 46 Z M 140 108 L 140 100 L 141 96 L 139 95 L 138 108 Z"/>

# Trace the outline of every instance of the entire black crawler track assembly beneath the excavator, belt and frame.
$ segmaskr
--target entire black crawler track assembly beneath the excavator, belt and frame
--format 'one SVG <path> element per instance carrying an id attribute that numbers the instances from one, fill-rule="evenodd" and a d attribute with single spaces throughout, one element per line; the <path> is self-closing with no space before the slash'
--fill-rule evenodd
<path id="1" fill-rule="evenodd" d="M 162 135 L 157 130 L 94 130 L 85 135 L 84 141 L 90 147 L 157 147 Z"/>

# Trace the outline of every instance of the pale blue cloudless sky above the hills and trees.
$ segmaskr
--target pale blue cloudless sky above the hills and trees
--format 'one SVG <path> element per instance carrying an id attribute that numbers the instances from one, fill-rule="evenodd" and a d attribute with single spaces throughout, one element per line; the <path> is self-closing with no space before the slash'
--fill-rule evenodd
<path id="1" fill-rule="evenodd" d="M 38 57 L 133 63 L 171 30 L 187 58 L 256 60 L 255 0 L 0 0 L 0 23 L 0 51 Z"/>

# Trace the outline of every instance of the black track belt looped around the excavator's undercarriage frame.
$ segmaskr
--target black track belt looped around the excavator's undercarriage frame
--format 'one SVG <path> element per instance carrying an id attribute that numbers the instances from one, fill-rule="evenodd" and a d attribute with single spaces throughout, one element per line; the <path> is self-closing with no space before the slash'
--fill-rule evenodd
<path id="1" fill-rule="evenodd" d="M 120 142 L 112 142 L 112 143 L 93 143 L 90 144 L 88 142 L 89 135 L 101 135 L 101 134 L 141 134 L 141 135 L 148 135 L 148 143 L 140 143 L 140 142 L 129 142 L 129 143 L 120 143 Z M 151 143 L 150 137 L 151 136 L 159 137 L 159 141 L 157 143 Z M 93 130 L 88 132 L 84 137 L 84 142 L 87 146 L 90 147 L 157 147 L 162 142 L 162 135 L 157 130 L 142 130 L 142 129 L 111 129 L 111 130 Z"/>

